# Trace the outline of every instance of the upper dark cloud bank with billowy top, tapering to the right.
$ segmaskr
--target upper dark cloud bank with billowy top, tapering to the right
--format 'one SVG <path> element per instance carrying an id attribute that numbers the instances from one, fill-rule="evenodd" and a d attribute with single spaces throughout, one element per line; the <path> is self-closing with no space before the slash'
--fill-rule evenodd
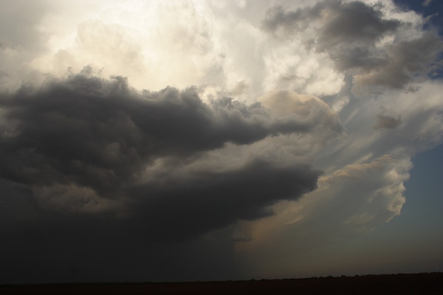
<path id="1" fill-rule="evenodd" d="M 118 77 L 109 82 L 75 76 L 3 94 L 0 175 L 26 184 L 75 182 L 113 190 L 157 157 L 310 128 L 296 118 L 272 118 L 258 104 L 221 99 L 213 106 L 192 88 L 139 95 Z"/>

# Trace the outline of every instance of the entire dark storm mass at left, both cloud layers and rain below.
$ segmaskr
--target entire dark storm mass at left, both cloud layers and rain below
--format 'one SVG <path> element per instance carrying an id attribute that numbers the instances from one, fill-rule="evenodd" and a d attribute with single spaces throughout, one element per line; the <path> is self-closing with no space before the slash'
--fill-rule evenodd
<path id="1" fill-rule="evenodd" d="M 316 188 L 321 172 L 308 164 L 198 165 L 226 143 L 307 133 L 315 121 L 88 73 L 0 95 L 7 283 L 232 279 L 241 237 L 227 228 Z"/>

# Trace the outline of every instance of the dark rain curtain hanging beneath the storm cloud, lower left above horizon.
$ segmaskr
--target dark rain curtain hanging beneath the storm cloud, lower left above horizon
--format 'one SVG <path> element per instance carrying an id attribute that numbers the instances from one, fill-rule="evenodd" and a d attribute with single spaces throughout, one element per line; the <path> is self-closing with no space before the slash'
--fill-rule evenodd
<path id="1" fill-rule="evenodd" d="M 7 253 L 0 264 L 2 283 L 195 281 L 235 276 L 229 240 L 153 243 L 149 230 L 133 219 L 44 211 L 32 203 L 31 192 L 19 185 L 0 179 L 0 187 L 0 251 Z M 78 273 L 73 274 L 72 268 Z"/>

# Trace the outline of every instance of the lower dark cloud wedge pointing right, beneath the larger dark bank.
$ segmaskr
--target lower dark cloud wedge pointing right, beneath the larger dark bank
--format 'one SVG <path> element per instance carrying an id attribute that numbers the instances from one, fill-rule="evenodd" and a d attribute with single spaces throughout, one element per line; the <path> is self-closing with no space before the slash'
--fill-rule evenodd
<path id="1" fill-rule="evenodd" d="M 314 190 L 319 175 L 306 165 L 278 167 L 255 161 L 234 171 L 196 173 L 190 179 L 166 177 L 134 187 L 131 195 L 137 196 L 142 224 L 151 235 L 177 239 L 198 236 L 238 219 L 272 215 L 269 206 Z"/>

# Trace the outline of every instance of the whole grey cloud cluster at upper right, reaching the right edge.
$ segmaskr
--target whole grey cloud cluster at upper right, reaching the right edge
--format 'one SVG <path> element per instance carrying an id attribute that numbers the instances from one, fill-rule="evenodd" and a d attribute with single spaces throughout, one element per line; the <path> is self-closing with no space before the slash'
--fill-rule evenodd
<path id="1" fill-rule="evenodd" d="M 429 73 L 443 51 L 442 40 L 429 31 L 416 39 L 376 46 L 384 36 L 408 26 L 385 19 L 378 5 L 324 1 L 295 11 L 277 6 L 268 10 L 262 28 L 288 37 L 319 24 L 313 26 L 316 36 L 303 37 L 307 48 L 326 52 L 337 69 L 358 74 L 361 85 L 403 88 L 414 76 Z"/>

